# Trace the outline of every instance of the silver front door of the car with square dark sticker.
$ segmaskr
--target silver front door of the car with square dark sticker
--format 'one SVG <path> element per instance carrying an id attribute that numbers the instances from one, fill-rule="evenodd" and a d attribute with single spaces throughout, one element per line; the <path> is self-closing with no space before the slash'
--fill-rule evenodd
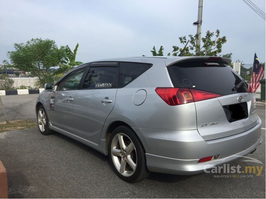
<path id="1" fill-rule="evenodd" d="M 58 82 L 56 91 L 49 96 L 48 112 L 51 124 L 71 133 L 76 133 L 77 130 L 73 118 L 73 102 L 86 69 L 85 66 L 80 66 L 67 74 Z"/>

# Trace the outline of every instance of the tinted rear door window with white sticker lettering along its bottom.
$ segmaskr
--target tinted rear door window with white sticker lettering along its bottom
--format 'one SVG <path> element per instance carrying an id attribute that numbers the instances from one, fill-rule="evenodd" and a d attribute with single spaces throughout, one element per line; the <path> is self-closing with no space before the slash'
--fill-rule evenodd
<path id="1" fill-rule="evenodd" d="M 117 88 L 118 67 L 91 67 L 85 77 L 83 87 L 88 88 Z"/>

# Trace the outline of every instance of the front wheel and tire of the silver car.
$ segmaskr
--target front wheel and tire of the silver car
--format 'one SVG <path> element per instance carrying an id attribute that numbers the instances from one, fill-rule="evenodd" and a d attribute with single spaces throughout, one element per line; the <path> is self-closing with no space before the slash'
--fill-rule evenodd
<path id="1" fill-rule="evenodd" d="M 42 135 L 50 135 L 53 133 L 53 131 L 49 129 L 49 119 L 45 108 L 42 105 L 39 106 L 37 110 L 37 123 Z"/>

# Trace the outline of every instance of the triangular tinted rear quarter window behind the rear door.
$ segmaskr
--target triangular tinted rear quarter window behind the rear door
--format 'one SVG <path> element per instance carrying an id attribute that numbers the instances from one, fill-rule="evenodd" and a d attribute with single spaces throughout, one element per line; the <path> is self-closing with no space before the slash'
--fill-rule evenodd
<path id="1" fill-rule="evenodd" d="M 129 84 L 149 68 L 149 64 L 121 62 L 119 65 L 119 87 Z"/>

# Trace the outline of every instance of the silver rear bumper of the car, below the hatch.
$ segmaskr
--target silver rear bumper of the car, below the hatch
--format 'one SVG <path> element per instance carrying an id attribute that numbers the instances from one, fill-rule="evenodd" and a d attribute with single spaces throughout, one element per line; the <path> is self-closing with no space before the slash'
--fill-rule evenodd
<path id="1" fill-rule="evenodd" d="M 213 166 L 235 162 L 262 143 L 261 120 L 237 135 L 205 141 L 197 130 L 168 131 L 132 127 L 146 150 L 149 171 L 193 175 Z M 200 158 L 221 154 L 219 159 L 198 164 Z"/>

